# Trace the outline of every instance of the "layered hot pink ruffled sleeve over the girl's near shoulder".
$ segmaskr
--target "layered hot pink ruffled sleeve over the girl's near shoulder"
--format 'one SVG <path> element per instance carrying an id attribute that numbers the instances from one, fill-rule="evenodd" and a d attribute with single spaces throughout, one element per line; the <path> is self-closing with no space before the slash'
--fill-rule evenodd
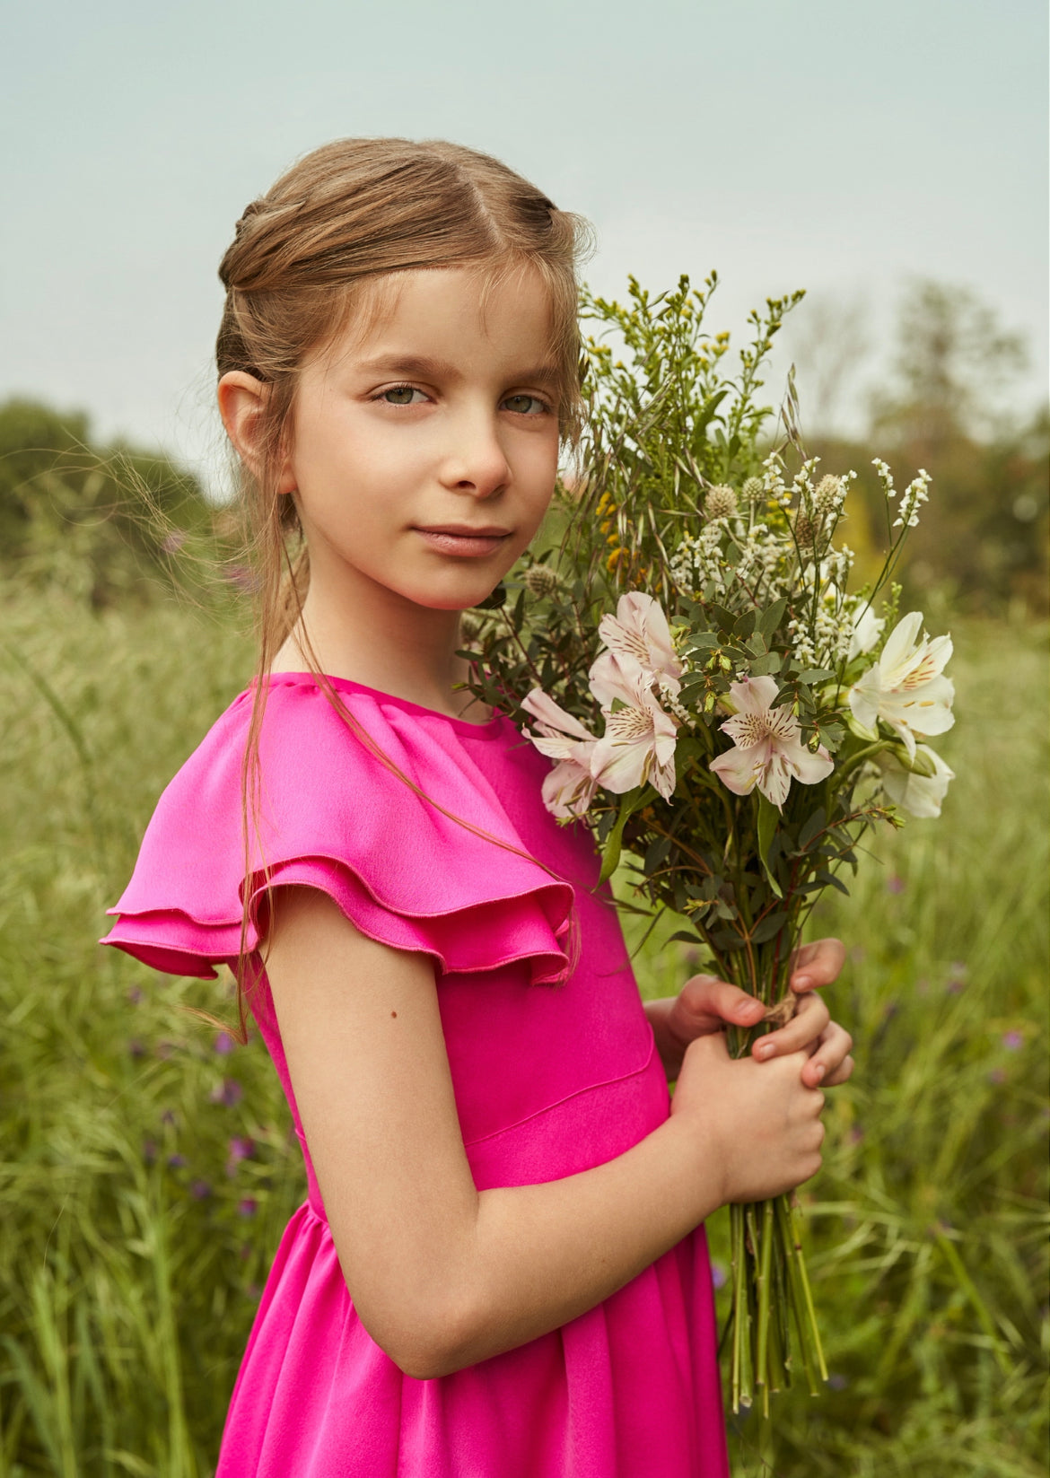
<path id="1" fill-rule="evenodd" d="M 312 681 L 274 678 L 247 869 L 241 764 L 251 695 L 243 693 L 161 795 L 102 943 L 155 970 L 213 977 L 216 964 L 240 955 L 245 891 L 253 950 L 268 890 L 296 882 L 327 893 L 361 933 L 420 950 L 445 974 L 526 961 L 534 984 L 563 980 L 572 887 L 522 854 L 464 742 L 473 726 L 352 684 L 339 696 L 424 794 L 390 773 Z M 497 743 L 521 742 L 506 718 L 487 730 Z"/>

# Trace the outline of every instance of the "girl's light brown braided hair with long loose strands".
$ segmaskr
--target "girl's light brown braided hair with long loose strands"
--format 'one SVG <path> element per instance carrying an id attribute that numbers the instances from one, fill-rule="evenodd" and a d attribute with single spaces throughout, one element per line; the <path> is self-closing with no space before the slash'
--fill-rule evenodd
<path id="1" fill-rule="evenodd" d="M 240 466 L 237 491 L 237 511 L 254 571 L 257 633 L 243 788 L 245 899 L 235 1033 L 240 1041 L 247 1039 L 248 816 L 257 817 L 266 677 L 274 655 L 302 615 L 309 585 L 309 553 L 296 505 L 291 497 L 278 492 L 281 464 L 291 445 L 299 374 L 308 358 L 350 321 L 361 334 L 374 327 L 395 273 L 469 266 L 478 273 L 484 312 L 494 290 L 531 269 L 549 293 L 550 349 L 559 368 L 559 432 L 563 449 L 572 454 L 583 429 L 577 268 L 592 247 L 593 234 L 584 217 L 558 210 L 541 191 L 491 155 L 441 139 L 325 143 L 251 201 L 237 222 L 237 235 L 219 266 L 226 303 L 216 365 L 220 377 L 241 370 L 269 387 L 256 421 L 257 467 L 251 471 Z M 318 686 L 361 742 L 423 794 L 349 714 L 318 671 L 309 638 L 303 636 L 300 644 Z M 467 825 L 461 817 L 453 819 Z"/>

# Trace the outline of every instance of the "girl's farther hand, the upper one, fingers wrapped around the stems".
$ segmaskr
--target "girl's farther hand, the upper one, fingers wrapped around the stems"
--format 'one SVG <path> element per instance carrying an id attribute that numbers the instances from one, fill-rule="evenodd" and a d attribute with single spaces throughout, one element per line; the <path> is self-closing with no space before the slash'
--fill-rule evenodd
<path id="1" fill-rule="evenodd" d="M 796 1015 L 782 1027 L 759 1038 L 751 1046 L 757 1061 L 788 1052 L 809 1054 L 802 1075 L 807 1088 L 834 1088 L 853 1072 L 849 1055 L 853 1041 L 831 1020 L 828 1008 L 813 990 L 839 977 L 846 950 L 837 939 L 803 944 L 793 958 L 790 986 L 799 996 Z M 753 1027 L 762 1020 L 763 1007 L 754 996 L 714 975 L 694 975 L 677 996 L 646 1001 L 645 1011 L 657 1039 L 657 1051 L 668 1079 L 676 1079 L 689 1042 L 722 1032 L 726 1026 Z"/>

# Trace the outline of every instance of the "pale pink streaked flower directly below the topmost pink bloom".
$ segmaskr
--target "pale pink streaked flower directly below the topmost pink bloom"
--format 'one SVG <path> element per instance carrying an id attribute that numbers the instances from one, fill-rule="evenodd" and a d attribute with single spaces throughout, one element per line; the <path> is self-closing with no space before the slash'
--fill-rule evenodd
<path id="1" fill-rule="evenodd" d="M 648 783 L 668 801 L 679 726 L 660 706 L 652 674 L 629 655 L 603 652 L 590 670 L 590 690 L 605 714 L 605 733 L 592 755 L 595 779 L 614 795 Z M 617 701 L 623 706 L 614 711 Z"/>

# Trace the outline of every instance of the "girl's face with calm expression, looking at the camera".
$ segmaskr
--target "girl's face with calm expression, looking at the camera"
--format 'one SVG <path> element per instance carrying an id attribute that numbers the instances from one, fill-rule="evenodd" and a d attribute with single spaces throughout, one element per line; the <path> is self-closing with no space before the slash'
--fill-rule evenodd
<path id="1" fill-rule="evenodd" d="M 285 482 L 311 591 L 370 588 L 463 610 L 495 587 L 550 503 L 559 432 L 549 302 L 529 272 L 482 322 L 467 268 L 398 273 L 367 338 L 308 361 Z"/>

